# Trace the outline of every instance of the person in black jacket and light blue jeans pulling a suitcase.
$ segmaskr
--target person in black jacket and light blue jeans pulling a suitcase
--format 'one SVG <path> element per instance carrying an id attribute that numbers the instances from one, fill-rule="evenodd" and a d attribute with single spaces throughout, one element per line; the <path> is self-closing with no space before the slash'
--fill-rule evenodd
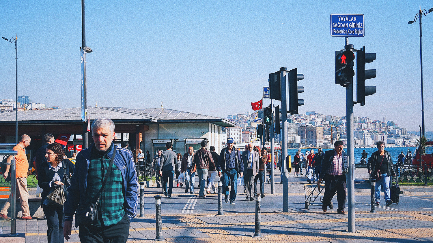
<path id="1" fill-rule="evenodd" d="M 376 181 L 376 205 L 380 205 L 380 191 L 383 186 L 385 191 L 385 204 L 389 206 L 393 203 L 390 197 L 389 184 L 391 176 L 395 176 L 395 172 L 392 166 L 391 155 L 385 150 L 385 142 L 378 141 L 376 145 L 378 151 L 373 152 L 372 156 L 368 159 L 368 174 L 371 174 L 371 177 L 374 179 L 379 170 L 381 179 Z"/>

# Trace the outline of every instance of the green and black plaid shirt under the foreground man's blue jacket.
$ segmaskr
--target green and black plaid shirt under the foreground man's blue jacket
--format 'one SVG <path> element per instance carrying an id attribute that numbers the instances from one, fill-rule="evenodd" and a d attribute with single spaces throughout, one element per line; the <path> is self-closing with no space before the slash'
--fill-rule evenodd
<path id="1" fill-rule="evenodd" d="M 107 157 L 106 153 L 110 150 L 111 147 L 106 152 L 100 152 L 94 146 L 92 147 L 87 174 L 86 202 L 94 202 L 96 194 L 102 187 L 103 175 L 110 165 L 110 158 Z M 105 187 L 99 198 L 98 221 L 94 223 L 95 226 L 117 224 L 125 215 L 125 211 L 123 210 L 122 173 L 113 164 L 108 176 L 107 183 L 105 183 Z"/>

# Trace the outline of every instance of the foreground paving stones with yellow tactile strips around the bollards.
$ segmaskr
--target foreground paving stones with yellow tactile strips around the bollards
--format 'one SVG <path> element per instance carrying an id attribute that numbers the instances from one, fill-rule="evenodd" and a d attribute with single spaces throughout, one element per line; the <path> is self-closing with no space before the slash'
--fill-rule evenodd
<path id="1" fill-rule="evenodd" d="M 179 243 L 433 241 L 433 214 L 427 211 L 356 212 L 355 233 L 347 231 L 347 221 L 347 215 L 329 212 L 262 213 L 262 237 L 252 237 L 255 233 L 254 213 L 163 215 L 162 236 L 167 242 Z M 3 233 L 10 232 L 10 221 L 0 221 L 0 226 Z M 45 220 L 17 220 L 16 227 L 17 232 L 26 232 L 20 239 L 0 234 L 0 241 L 47 241 Z M 154 216 L 134 218 L 129 231 L 128 242 L 154 242 Z M 69 242 L 79 242 L 76 228 Z"/>

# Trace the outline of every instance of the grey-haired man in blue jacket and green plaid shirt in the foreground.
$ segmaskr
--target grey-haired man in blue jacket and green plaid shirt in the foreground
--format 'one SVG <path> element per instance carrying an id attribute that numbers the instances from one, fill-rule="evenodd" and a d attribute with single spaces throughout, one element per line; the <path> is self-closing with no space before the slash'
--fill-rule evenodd
<path id="1" fill-rule="evenodd" d="M 79 237 L 81 243 L 126 243 L 129 236 L 129 222 L 136 215 L 138 198 L 138 181 L 132 154 L 124 148 L 114 145 L 114 123 L 108 118 L 98 118 L 92 123 L 94 144 L 77 155 L 71 186 L 68 187 L 68 198 L 63 211 L 65 223 L 63 235 L 69 240 L 72 217 L 79 203 L 96 200 L 102 187 L 104 176 L 107 183 L 97 204 L 97 220 L 89 224 L 80 224 Z M 110 159 L 114 156 L 110 174 Z"/>

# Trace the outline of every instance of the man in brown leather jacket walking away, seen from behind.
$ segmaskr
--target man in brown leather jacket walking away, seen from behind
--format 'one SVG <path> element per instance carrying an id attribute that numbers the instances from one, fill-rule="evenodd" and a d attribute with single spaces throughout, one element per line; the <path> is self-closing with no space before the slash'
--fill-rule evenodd
<path id="1" fill-rule="evenodd" d="M 194 160 L 192 163 L 192 167 L 197 165 L 197 173 L 198 179 L 200 180 L 200 193 L 199 199 L 206 198 L 206 180 L 207 180 L 207 172 L 209 171 L 209 165 L 211 167 L 215 167 L 215 163 L 213 162 L 212 154 L 210 151 L 206 150 L 207 141 L 201 141 L 201 148 L 195 152 Z"/>

